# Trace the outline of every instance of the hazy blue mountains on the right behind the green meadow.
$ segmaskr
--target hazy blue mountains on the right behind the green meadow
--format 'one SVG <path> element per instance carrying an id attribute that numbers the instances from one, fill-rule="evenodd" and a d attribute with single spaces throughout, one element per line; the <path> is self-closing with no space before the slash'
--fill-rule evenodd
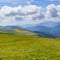
<path id="1" fill-rule="evenodd" d="M 35 26 L 26 27 L 26 29 L 43 37 L 60 37 L 60 22 L 44 22 Z"/>

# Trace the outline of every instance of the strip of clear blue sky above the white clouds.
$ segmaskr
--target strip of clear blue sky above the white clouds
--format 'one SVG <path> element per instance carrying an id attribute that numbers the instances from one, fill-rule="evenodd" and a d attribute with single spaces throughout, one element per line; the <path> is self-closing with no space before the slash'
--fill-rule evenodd
<path id="1" fill-rule="evenodd" d="M 25 6 L 30 2 L 30 4 L 33 5 L 37 5 L 37 6 L 42 6 L 45 7 L 49 4 L 56 4 L 59 5 L 60 4 L 60 0 L 0 0 L 0 7 L 4 6 L 4 5 L 8 5 L 8 6 L 18 6 L 18 5 L 22 5 Z"/>

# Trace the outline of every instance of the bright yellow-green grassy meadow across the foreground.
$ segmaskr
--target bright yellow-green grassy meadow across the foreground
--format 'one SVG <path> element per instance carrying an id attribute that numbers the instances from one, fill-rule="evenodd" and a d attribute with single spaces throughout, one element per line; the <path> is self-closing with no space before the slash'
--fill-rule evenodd
<path id="1" fill-rule="evenodd" d="M 60 60 L 60 39 L 0 34 L 0 60 Z"/>

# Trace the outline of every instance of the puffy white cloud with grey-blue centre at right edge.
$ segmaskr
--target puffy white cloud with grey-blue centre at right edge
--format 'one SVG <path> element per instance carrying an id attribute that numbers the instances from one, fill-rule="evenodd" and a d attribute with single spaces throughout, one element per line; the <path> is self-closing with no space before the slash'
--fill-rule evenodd
<path id="1" fill-rule="evenodd" d="M 48 5 L 46 11 L 46 18 L 60 18 L 60 5 Z"/>

